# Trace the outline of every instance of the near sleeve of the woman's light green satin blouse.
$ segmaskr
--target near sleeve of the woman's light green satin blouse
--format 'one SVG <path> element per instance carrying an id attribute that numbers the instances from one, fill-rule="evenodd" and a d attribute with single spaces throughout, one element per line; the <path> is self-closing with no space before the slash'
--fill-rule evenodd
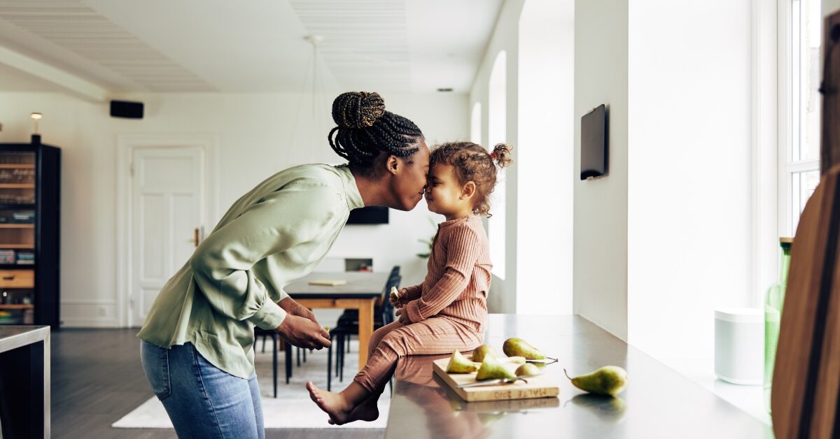
<path id="1" fill-rule="evenodd" d="M 279 327 L 286 311 L 271 301 L 250 269 L 271 254 L 319 238 L 333 218 L 333 196 L 311 188 L 276 191 L 214 230 L 190 259 L 193 277 L 213 309 L 262 329 Z"/>

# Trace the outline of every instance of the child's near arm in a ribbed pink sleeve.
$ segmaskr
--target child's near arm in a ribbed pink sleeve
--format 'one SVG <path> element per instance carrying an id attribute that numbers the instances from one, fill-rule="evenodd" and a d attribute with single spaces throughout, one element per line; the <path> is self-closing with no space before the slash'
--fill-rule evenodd
<path id="1" fill-rule="evenodd" d="M 479 254 L 478 233 L 468 226 L 457 227 L 449 236 L 443 277 L 416 301 L 405 306 L 404 316 L 412 323 L 438 314 L 464 292 Z"/>

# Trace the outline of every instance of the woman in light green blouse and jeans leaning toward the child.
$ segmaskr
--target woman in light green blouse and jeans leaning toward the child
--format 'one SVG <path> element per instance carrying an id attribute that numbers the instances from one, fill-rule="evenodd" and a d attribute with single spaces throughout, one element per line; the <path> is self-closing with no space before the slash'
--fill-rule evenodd
<path id="1" fill-rule="evenodd" d="M 362 206 L 410 211 L 423 198 L 428 146 L 377 93 L 333 102 L 329 144 L 348 165 L 272 175 L 230 207 L 164 285 L 138 337 L 146 377 L 181 437 L 264 437 L 254 327 L 300 348 L 329 335 L 283 286 L 312 272 Z"/>

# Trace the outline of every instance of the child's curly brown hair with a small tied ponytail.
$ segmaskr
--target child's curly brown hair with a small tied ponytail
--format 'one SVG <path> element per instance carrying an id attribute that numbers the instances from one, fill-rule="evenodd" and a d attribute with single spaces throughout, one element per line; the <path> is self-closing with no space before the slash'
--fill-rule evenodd
<path id="1" fill-rule="evenodd" d="M 496 187 L 496 166 L 504 168 L 513 163 L 512 148 L 507 144 L 497 144 L 492 153 L 488 153 L 480 144 L 472 142 L 450 142 L 439 144 L 432 150 L 429 165 L 444 163 L 452 165 L 455 176 L 463 186 L 475 183 L 475 215 L 490 214 L 490 194 Z"/>

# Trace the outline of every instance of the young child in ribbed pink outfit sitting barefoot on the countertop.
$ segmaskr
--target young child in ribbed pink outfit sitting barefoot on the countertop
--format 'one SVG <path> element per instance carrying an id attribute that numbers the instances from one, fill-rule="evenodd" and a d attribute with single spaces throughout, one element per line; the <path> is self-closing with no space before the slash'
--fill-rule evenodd
<path id="1" fill-rule="evenodd" d="M 397 321 L 370 337 L 368 362 L 340 393 L 307 382 L 313 401 L 330 424 L 374 421 L 376 401 L 406 355 L 470 351 L 483 342 L 492 267 L 480 215 L 489 215 L 496 167 L 510 165 L 511 148 L 492 154 L 470 142 L 442 144 L 432 151 L 425 196 L 428 210 L 446 217 L 438 225 L 423 284 L 400 290 Z"/>

